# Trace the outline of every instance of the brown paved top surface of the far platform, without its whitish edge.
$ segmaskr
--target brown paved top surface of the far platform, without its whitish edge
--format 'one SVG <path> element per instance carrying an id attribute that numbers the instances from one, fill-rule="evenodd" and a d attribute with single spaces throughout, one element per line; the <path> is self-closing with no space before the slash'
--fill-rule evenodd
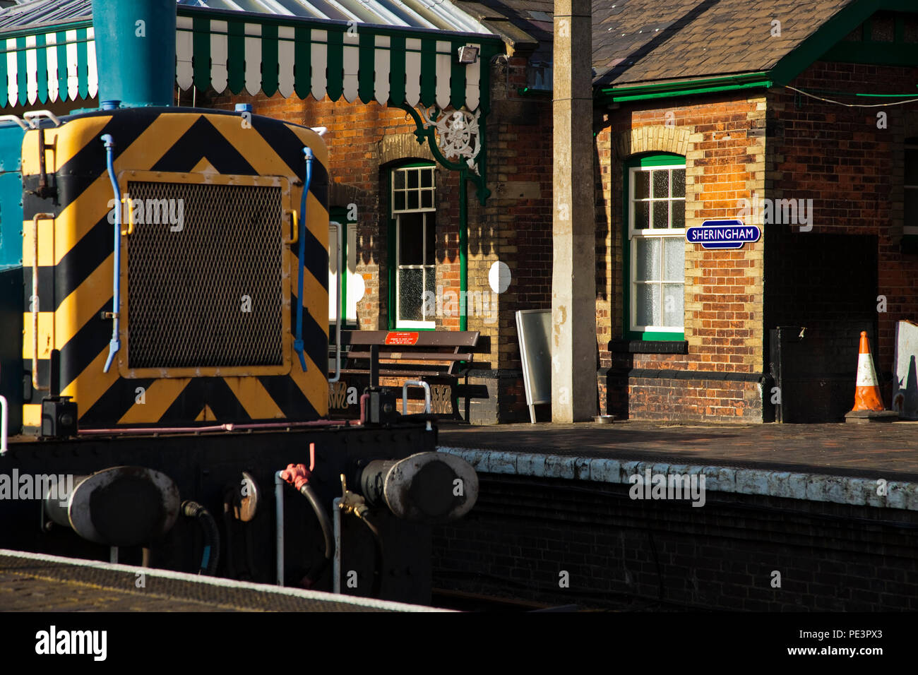
<path id="1" fill-rule="evenodd" d="M 438 444 L 918 482 L 918 422 L 440 424 Z"/>

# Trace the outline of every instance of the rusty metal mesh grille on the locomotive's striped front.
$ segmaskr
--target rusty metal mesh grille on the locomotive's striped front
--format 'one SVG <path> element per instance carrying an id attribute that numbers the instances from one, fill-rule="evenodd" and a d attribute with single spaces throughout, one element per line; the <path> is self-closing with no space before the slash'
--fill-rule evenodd
<path id="1" fill-rule="evenodd" d="M 129 367 L 281 365 L 281 188 L 131 181 L 128 194 L 144 206 L 128 242 Z"/>

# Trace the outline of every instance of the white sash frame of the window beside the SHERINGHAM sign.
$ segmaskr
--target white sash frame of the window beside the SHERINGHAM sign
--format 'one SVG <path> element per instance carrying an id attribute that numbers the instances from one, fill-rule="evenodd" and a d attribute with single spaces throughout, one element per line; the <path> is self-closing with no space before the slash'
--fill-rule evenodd
<path id="1" fill-rule="evenodd" d="M 672 280 L 665 280 L 662 278 L 664 274 L 664 270 L 666 269 L 666 260 L 665 260 L 666 247 L 663 245 L 662 241 L 660 242 L 661 279 L 657 282 L 651 282 L 651 283 L 656 283 L 658 286 L 661 287 L 660 288 L 661 299 L 663 295 L 662 287 L 664 284 L 678 283 L 682 286 L 682 293 L 683 293 L 682 298 L 683 299 L 682 299 L 682 324 L 681 325 L 678 325 L 678 326 L 642 326 L 642 325 L 637 324 L 637 303 L 638 303 L 637 287 L 639 285 L 645 286 L 647 285 L 647 282 L 638 282 L 636 279 L 636 276 L 637 276 L 637 240 L 639 239 L 663 240 L 666 238 L 678 238 L 683 242 L 683 245 L 684 245 L 685 237 L 686 237 L 686 229 L 679 228 L 677 230 L 673 230 L 673 229 L 667 228 L 666 230 L 663 230 L 663 229 L 655 230 L 653 227 L 648 227 L 646 229 L 636 229 L 634 227 L 634 203 L 635 203 L 634 202 L 634 187 L 636 186 L 636 181 L 634 179 L 635 174 L 638 172 L 651 172 L 651 171 L 655 171 L 659 169 L 672 170 L 672 169 L 685 169 L 685 168 L 686 168 L 686 163 L 684 161 L 681 163 L 677 162 L 677 163 L 672 163 L 672 164 L 657 164 L 654 166 L 631 166 L 628 168 L 628 172 L 629 172 L 628 173 L 628 249 L 629 249 L 629 255 L 631 259 L 631 264 L 629 267 L 630 278 L 628 279 L 628 283 L 630 285 L 630 290 L 631 290 L 631 293 L 629 295 L 628 304 L 631 307 L 628 308 L 628 312 L 629 312 L 628 325 L 629 325 L 629 330 L 632 332 L 677 332 L 677 333 L 685 332 L 685 275 L 683 274 L 682 279 L 679 282 L 672 281 Z M 670 186 L 670 189 L 671 189 L 671 186 Z M 650 181 L 650 190 L 651 190 L 650 197 L 647 199 L 647 201 L 649 202 L 662 201 L 660 199 L 653 198 L 653 181 L 652 180 Z M 642 201 L 644 200 L 642 199 Z M 670 196 L 670 197 L 667 197 L 667 201 L 681 202 L 682 208 L 684 209 L 686 197 Z M 672 223 L 672 207 L 670 207 L 669 213 L 670 213 L 669 222 Z M 652 211 L 649 213 L 649 218 L 650 219 L 648 220 L 648 224 L 653 225 Z"/>

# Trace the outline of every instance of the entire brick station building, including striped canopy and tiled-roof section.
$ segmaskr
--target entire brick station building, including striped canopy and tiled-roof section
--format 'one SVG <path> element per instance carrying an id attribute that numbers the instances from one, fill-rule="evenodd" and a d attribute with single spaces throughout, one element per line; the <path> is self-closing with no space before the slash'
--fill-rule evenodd
<path id="1" fill-rule="evenodd" d="M 88 0 L 33 5 L 69 12 L 36 35 L 91 39 Z M 515 312 L 552 302 L 553 3 L 288 5 L 180 3 L 177 102 L 326 127 L 344 326 L 480 332 L 461 412 L 527 419 Z M 597 411 L 839 420 L 862 330 L 889 403 L 895 322 L 918 312 L 918 6 L 593 7 Z M 34 44 L 24 21 L 0 12 L 7 51 Z M 6 107 L 93 105 L 91 72 L 77 62 L 74 92 L 46 102 L 7 68 Z M 689 243 L 711 219 L 762 234 Z"/>

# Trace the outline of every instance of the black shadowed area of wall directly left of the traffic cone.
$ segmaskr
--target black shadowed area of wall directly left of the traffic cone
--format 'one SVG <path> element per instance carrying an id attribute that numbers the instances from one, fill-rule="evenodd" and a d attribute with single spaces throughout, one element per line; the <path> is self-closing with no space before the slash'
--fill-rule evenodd
<path id="1" fill-rule="evenodd" d="M 861 331 L 877 363 L 878 237 L 766 225 L 765 238 L 766 353 L 781 401 L 776 419 L 841 422 L 854 402 Z M 889 402 L 891 375 L 879 368 L 877 375 Z M 765 397 L 768 405 L 772 398 Z"/>

